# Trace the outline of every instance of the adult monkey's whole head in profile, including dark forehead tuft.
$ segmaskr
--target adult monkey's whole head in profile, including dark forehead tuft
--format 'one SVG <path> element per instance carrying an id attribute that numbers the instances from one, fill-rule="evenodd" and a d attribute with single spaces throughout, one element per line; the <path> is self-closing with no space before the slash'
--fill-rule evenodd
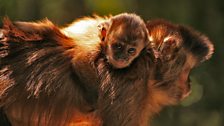
<path id="1" fill-rule="evenodd" d="M 155 75 L 158 87 L 166 87 L 169 101 L 179 101 L 189 95 L 190 71 L 213 53 L 206 36 L 185 26 L 156 20 L 147 23 L 150 42 L 159 54 Z"/>

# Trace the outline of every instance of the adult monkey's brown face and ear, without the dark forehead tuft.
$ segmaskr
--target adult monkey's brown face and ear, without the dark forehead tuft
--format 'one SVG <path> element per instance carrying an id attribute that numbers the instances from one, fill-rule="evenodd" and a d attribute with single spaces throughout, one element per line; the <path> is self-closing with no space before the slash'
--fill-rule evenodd
<path id="1" fill-rule="evenodd" d="M 183 38 L 174 25 L 158 22 L 148 25 L 149 38 L 159 53 L 158 85 L 166 87 L 167 94 L 179 101 L 190 93 L 189 73 L 195 58 L 183 48 Z M 172 100 L 171 100 L 172 101 Z"/>

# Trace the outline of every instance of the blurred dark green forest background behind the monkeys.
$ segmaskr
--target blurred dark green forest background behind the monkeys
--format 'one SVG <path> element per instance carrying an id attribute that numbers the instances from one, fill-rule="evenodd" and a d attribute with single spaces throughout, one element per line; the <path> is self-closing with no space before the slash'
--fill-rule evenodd
<path id="1" fill-rule="evenodd" d="M 212 59 L 191 73 L 190 97 L 156 115 L 153 126 L 224 126 L 223 0 L 0 0 L 0 18 L 36 21 L 47 17 L 59 26 L 83 16 L 121 12 L 190 25 L 215 45 Z"/>

